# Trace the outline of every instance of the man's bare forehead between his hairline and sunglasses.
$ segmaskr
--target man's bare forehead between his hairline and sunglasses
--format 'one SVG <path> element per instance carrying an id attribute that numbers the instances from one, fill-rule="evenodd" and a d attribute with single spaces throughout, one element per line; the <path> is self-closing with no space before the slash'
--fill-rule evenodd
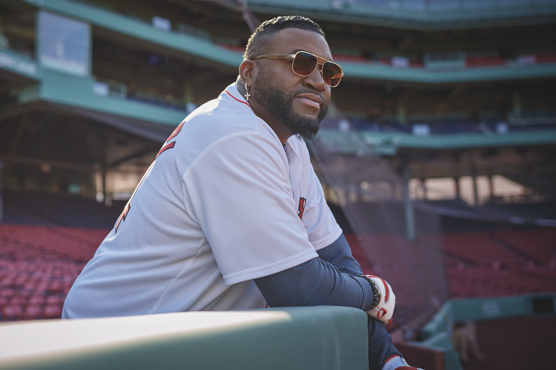
<path id="1" fill-rule="evenodd" d="M 306 51 L 316 56 L 331 59 L 328 43 L 320 33 L 299 28 L 285 28 L 280 30 L 269 43 L 269 54 L 295 54 Z"/>

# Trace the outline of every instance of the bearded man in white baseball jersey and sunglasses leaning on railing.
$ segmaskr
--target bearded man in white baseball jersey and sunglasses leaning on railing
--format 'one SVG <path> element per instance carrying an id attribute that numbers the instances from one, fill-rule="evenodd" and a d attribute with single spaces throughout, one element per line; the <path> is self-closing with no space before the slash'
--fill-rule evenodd
<path id="1" fill-rule="evenodd" d="M 236 83 L 158 152 L 63 317 L 357 307 L 370 315 L 370 368 L 410 368 L 384 325 L 394 294 L 360 275 L 300 140 L 315 136 L 341 79 L 331 59 L 310 19 L 261 24 Z"/>

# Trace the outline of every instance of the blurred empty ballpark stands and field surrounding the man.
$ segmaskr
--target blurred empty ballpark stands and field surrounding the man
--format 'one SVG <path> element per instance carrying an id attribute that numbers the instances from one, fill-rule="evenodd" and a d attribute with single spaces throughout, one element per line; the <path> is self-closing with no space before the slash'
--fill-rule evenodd
<path id="1" fill-rule="evenodd" d="M 344 68 L 307 146 L 410 364 L 552 363 L 554 0 L 0 0 L 0 320 L 60 317 L 161 144 L 280 15 Z"/>

